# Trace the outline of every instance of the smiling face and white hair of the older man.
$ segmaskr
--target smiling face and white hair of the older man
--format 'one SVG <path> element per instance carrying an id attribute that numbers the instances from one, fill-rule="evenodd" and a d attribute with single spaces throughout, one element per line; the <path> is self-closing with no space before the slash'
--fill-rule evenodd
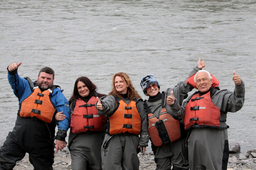
<path id="1" fill-rule="evenodd" d="M 209 78 L 206 72 L 200 72 L 195 78 L 196 87 L 202 93 L 207 92 L 212 86 L 212 79 Z"/>

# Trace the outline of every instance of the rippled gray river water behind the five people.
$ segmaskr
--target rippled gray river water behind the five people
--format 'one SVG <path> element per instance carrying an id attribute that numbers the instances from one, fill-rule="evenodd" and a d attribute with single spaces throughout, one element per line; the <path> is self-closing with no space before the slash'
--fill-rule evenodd
<path id="1" fill-rule="evenodd" d="M 67 99 L 78 77 L 108 94 L 121 71 L 147 99 L 141 77 L 154 74 L 165 90 L 201 57 L 221 89 L 233 91 L 233 70 L 245 82 L 244 107 L 228 113 L 229 139 L 242 153 L 256 149 L 255 11 L 256 0 L 0 0 L 0 145 L 18 110 L 7 80 L 12 62 L 23 62 L 19 75 L 33 81 L 53 68 Z"/>

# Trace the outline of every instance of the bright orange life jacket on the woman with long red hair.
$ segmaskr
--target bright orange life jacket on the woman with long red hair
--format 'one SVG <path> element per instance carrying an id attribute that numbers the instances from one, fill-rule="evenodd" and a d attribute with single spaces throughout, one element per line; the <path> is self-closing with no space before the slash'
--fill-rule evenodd
<path id="1" fill-rule="evenodd" d="M 136 107 L 136 102 L 132 100 L 128 105 L 118 97 L 116 101 L 119 103 L 116 111 L 108 117 L 107 133 L 117 135 L 122 133 L 140 134 L 140 114 Z"/>

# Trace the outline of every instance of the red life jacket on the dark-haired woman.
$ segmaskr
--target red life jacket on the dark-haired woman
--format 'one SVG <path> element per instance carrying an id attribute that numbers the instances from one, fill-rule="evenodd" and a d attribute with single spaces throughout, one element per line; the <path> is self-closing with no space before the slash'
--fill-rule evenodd
<path id="1" fill-rule="evenodd" d="M 105 116 L 100 116 L 97 113 L 95 104 L 96 97 L 91 97 L 87 103 L 82 99 L 74 100 L 76 105 L 71 115 L 70 127 L 73 133 L 91 131 L 104 131 L 104 124 L 106 122 Z"/>

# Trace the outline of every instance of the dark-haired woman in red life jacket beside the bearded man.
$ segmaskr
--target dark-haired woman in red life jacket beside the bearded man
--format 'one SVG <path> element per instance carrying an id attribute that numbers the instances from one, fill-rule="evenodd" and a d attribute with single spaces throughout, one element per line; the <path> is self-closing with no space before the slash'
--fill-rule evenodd
<path id="1" fill-rule="evenodd" d="M 95 108 L 96 97 L 105 96 L 96 92 L 97 87 L 87 77 L 76 79 L 70 103 L 70 133 L 68 147 L 73 170 L 102 170 L 101 140 L 106 121 Z M 56 120 L 65 115 L 56 114 Z"/>

